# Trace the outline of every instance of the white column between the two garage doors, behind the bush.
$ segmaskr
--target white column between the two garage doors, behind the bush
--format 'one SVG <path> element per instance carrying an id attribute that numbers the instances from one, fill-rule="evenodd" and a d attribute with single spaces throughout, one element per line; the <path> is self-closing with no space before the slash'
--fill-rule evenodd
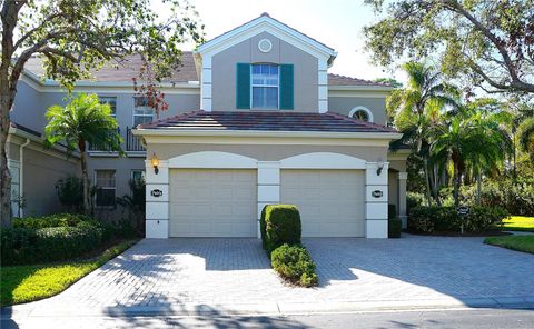
<path id="1" fill-rule="evenodd" d="M 261 238 L 261 233 L 259 231 L 261 210 L 266 205 L 277 205 L 279 202 L 280 162 L 258 161 L 258 238 Z"/>

